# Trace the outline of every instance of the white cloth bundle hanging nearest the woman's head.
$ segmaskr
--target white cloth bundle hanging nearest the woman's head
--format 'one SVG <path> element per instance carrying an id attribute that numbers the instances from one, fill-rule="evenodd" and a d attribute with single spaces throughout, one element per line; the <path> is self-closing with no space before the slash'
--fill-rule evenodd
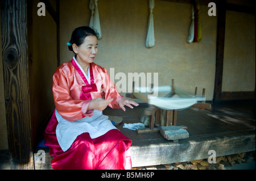
<path id="1" fill-rule="evenodd" d="M 98 15 L 98 0 L 90 0 L 89 9 L 92 11 L 92 15 L 90 16 L 89 26 L 93 27 L 98 33 L 98 39 L 101 39 L 101 24 L 100 24 L 100 16 Z"/>

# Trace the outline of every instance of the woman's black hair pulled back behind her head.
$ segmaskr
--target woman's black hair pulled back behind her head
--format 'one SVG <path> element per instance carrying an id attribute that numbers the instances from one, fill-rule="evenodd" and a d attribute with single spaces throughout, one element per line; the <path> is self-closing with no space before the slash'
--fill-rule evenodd
<path id="1" fill-rule="evenodd" d="M 71 40 L 69 41 L 71 45 L 68 46 L 68 49 L 73 52 L 72 44 L 76 44 L 79 47 L 84 43 L 85 37 L 89 35 L 94 35 L 98 38 L 98 33 L 93 28 L 88 26 L 76 28 L 72 33 Z"/>

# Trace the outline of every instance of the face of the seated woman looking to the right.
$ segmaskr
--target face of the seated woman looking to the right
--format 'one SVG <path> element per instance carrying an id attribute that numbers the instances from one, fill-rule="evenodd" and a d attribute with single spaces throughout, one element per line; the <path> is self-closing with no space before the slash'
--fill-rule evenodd
<path id="1" fill-rule="evenodd" d="M 79 47 L 76 44 L 72 45 L 73 51 L 76 53 L 76 60 L 82 64 L 90 64 L 93 62 L 97 52 L 98 43 L 97 37 L 94 35 L 86 36 L 84 43 Z"/>

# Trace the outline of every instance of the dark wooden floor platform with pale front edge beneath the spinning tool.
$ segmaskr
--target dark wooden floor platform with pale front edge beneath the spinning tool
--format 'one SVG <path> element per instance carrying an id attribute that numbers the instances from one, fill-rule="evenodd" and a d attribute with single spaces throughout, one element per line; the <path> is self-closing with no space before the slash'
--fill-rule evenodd
<path id="1" fill-rule="evenodd" d="M 211 110 L 188 108 L 178 111 L 177 125 L 185 125 L 189 133 L 189 138 L 179 142 L 168 141 L 159 132 L 138 134 L 122 128 L 123 123 L 139 123 L 144 108 L 146 106 L 127 109 L 126 112 L 110 108 L 104 111 L 105 115 L 123 117 L 117 128 L 133 141 L 133 167 L 208 158 L 209 150 L 216 151 L 217 157 L 255 150 L 255 101 L 213 104 Z M 35 151 L 35 160 L 40 149 Z M 47 149 L 44 150 L 47 153 Z M 51 158 L 48 153 L 46 156 L 48 163 L 36 164 L 36 169 L 51 168 Z"/>

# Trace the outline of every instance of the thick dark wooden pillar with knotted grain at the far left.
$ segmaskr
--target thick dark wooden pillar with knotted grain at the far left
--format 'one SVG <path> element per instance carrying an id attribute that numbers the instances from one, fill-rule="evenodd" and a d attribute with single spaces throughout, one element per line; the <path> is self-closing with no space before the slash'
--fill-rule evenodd
<path id="1" fill-rule="evenodd" d="M 27 18 L 32 10 L 27 10 L 27 1 L 1 0 L 1 64 L 11 169 L 34 169 L 28 83 L 28 36 L 32 33 Z"/>

